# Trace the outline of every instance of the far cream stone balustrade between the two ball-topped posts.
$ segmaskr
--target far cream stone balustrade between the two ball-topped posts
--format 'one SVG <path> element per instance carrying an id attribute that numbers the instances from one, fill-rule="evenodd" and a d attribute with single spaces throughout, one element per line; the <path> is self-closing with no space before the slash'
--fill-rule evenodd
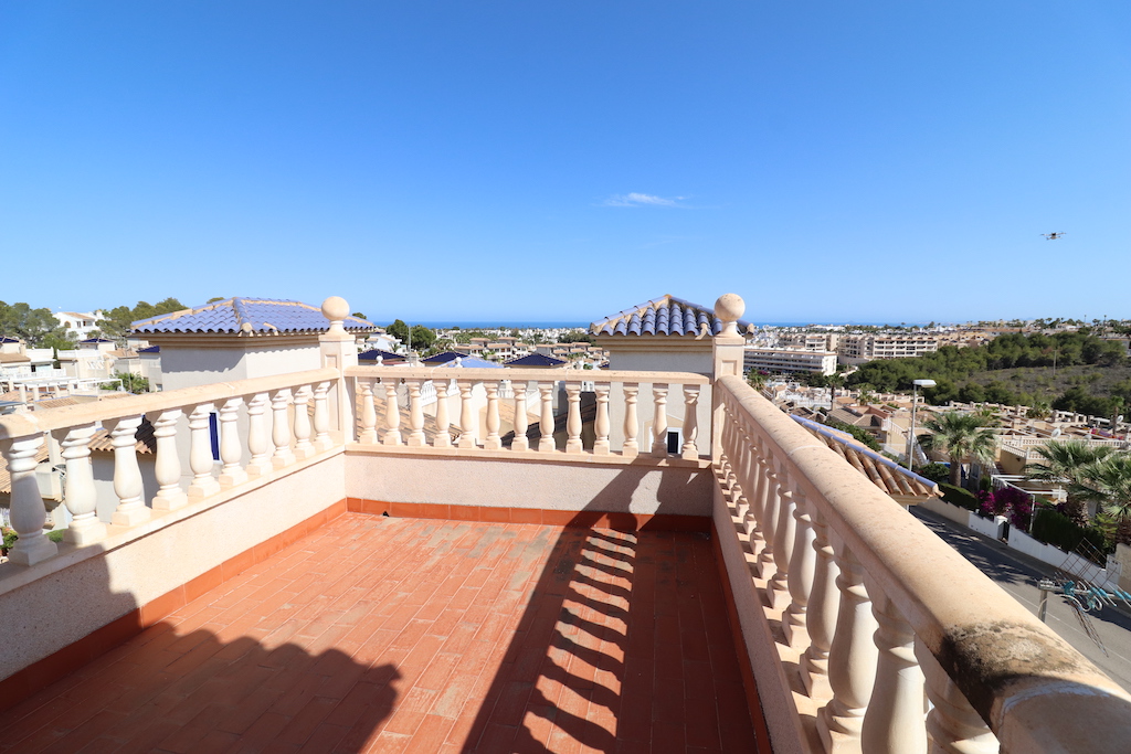
<path id="1" fill-rule="evenodd" d="M 655 457 L 667 457 L 667 399 L 671 385 L 681 385 L 683 398 L 683 443 L 677 456 L 693 460 L 699 458 L 698 413 L 699 393 L 703 385 L 710 383 L 701 374 L 683 372 L 610 372 L 604 370 L 532 370 L 532 369 L 464 369 L 452 366 L 405 367 L 405 366 L 354 366 L 346 370 L 346 376 L 356 383 L 359 408 L 359 441 L 364 444 L 402 445 L 409 448 L 429 447 L 424 433 L 424 401 L 421 391 L 426 384 L 437 390 L 435 432 L 433 448 L 450 448 L 452 439 L 450 428 L 455 425 L 459 436 L 455 441 L 457 448 L 483 450 L 503 450 L 500 430 L 500 400 L 511 400 L 515 407 L 515 437 L 510 450 L 516 452 L 552 453 L 559 450 L 554 440 L 553 407 L 554 391 L 559 382 L 563 383 L 568 407 L 566 410 L 567 456 L 588 453 L 608 456 L 614 452 L 610 441 L 611 387 L 621 385 L 623 398 L 623 436 L 624 441 L 616 454 L 633 458 L 640 454 L 640 422 L 637 415 L 637 402 L 641 384 L 651 385 L 653 426 L 651 442 L 645 452 Z M 400 407 L 398 405 L 398 388 L 404 383 L 407 389 L 408 427 L 407 437 L 400 427 Z M 536 384 L 530 390 L 529 384 Z M 452 391 L 455 384 L 455 391 Z M 476 440 L 480 426 L 478 409 L 473 396 L 476 385 L 482 385 L 485 392 L 486 435 L 482 443 Z M 507 388 L 509 385 L 509 388 Z M 595 393 L 596 411 L 594 418 L 593 447 L 586 450 L 582 439 L 581 392 L 592 387 Z M 379 418 L 375 410 L 375 393 L 383 391 L 385 416 Z M 458 395 L 458 410 L 451 416 L 450 399 Z M 679 393 L 676 393 L 679 395 Z M 503 398 L 507 396 L 507 398 Z M 532 445 L 527 439 L 528 407 L 538 416 L 539 437 Z M 618 408 L 621 408 L 619 406 Z"/>

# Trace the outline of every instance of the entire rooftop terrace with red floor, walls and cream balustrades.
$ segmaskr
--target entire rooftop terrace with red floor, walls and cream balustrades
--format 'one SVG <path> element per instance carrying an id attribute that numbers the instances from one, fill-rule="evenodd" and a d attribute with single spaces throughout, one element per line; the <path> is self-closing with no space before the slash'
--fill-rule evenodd
<path id="1" fill-rule="evenodd" d="M 0 565 L 5 744 L 1123 751 L 1131 694 L 867 476 L 890 467 L 854 468 L 746 384 L 740 304 L 708 323 L 709 376 L 586 374 L 592 450 L 576 383 L 562 444 L 547 425 L 506 449 L 491 393 L 534 382 L 506 402 L 545 407 L 558 375 L 357 366 L 340 300 L 316 369 L 0 416 L 19 532 Z M 458 435 L 450 416 L 425 432 L 418 389 L 438 374 L 489 390 L 482 441 L 463 390 Z M 641 383 L 679 396 L 684 426 L 710 388 L 690 447 L 640 447 Z M 400 384 L 407 415 L 378 414 L 373 387 Z M 202 406 L 226 413 L 219 462 L 207 422 L 174 419 Z M 67 465 L 60 546 L 31 483 L 44 433 Z"/>

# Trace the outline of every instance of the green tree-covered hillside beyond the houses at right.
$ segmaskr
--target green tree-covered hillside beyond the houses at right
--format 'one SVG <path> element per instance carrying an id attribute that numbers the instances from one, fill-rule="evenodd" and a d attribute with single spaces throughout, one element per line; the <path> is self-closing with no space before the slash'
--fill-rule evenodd
<path id="1" fill-rule="evenodd" d="M 912 381 L 935 405 L 951 400 L 1033 406 L 1111 416 L 1131 405 L 1131 369 L 1123 346 L 1087 328 L 1076 332 L 1003 335 L 985 346 L 943 346 L 915 358 L 878 359 L 847 379 L 857 389 L 909 392 Z"/>

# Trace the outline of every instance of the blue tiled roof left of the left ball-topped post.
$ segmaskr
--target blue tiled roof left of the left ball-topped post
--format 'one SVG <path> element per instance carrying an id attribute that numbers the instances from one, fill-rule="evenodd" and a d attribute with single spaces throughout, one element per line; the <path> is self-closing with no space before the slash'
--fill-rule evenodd
<path id="1" fill-rule="evenodd" d="M 319 306 L 301 301 L 233 297 L 204 306 L 138 320 L 135 332 L 325 332 L 330 321 Z M 373 330 L 375 326 L 357 317 L 347 317 L 346 330 Z"/>

